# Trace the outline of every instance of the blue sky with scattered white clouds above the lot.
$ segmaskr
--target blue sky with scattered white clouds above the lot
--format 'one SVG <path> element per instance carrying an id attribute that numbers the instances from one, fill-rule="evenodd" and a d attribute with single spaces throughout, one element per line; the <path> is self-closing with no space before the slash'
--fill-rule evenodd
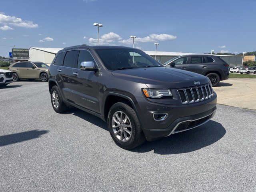
<path id="1" fill-rule="evenodd" d="M 12 47 L 78 44 L 144 51 L 251 52 L 256 48 L 256 0 L 0 0 L 0 56 Z M 2 46 L 7 45 L 7 46 Z"/>

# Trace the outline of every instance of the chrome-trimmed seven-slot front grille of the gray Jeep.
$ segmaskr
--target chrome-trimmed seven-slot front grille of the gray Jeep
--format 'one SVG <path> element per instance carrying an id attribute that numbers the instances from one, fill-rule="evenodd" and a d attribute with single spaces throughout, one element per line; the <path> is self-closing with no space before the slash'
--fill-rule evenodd
<path id="1" fill-rule="evenodd" d="M 178 94 L 180 96 L 182 104 L 199 102 L 214 96 L 210 84 L 188 89 L 179 89 Z"/>

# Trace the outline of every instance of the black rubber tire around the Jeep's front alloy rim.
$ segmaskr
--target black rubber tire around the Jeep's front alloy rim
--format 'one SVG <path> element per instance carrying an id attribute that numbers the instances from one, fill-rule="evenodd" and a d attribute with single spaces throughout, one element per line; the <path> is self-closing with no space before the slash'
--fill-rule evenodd
<path id="1" fill-rule="evenodd" d="M 132 128 L 131 128 L 132 134 L 130 135 L 130 139 L 126 142 L 119 140 L 117 136 L 114 134 L 114 130 L 112 128 L 112 117 L 114 113 L 118 111 L 124 112 L 128 116 L 130 120 L 130 124 L 132 125 Z M 142 132 L 142 128 L 140 126 L 140 122 L 138 120 L 136 112 L 133 110 L 133 108 L 131 108 L 128 104 L 124 102 L 118 102 L 110 108 L 108 112 L 108 129 L 114 142 L 119 147 L 126 150 L 136 148 L 141 144 L 143 144 L 146 140 Z"/>

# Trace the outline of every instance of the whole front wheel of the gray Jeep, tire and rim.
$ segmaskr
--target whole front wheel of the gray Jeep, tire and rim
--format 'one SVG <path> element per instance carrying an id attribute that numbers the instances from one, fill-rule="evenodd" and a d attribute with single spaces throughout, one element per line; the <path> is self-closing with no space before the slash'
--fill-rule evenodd
<path id="1" fill-rule="evenodd" d="M 136 148 L 145 141 L 138 117 L 126 103 L 118 102 L 110 108 L 108 128 L 114 142 L 121 148 Z"/>

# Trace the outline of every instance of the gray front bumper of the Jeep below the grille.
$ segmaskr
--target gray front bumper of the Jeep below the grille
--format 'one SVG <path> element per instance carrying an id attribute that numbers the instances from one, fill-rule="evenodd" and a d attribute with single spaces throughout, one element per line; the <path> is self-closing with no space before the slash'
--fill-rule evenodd
<path id="1" fill-rule="evenodd" d="M 149 141 L 200 126 L 209 121 L 217 109 L 216 93 L 204 102 L 187 105 L 157 104 L 148 102 L 144 97 L 136 99 L 140 103 L 139 118 L 143 132 Z M 156 112 L 168 113 L 168 117 L 163 121 L 156 121 L 153 118 Z"/>

